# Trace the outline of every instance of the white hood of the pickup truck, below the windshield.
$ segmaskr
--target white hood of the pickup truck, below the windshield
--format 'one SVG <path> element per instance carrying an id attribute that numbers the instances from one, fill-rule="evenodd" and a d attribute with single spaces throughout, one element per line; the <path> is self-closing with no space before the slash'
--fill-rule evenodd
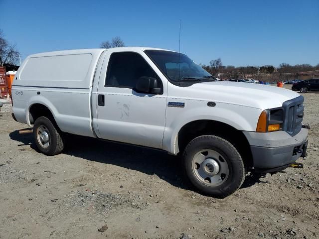
<path id="1" fill-rule="evenodd" d="M 192 91 L 191 95 L 197 96 L 201 100 L 242 105 L 262 110 L 281 107 L 285 101 L 300 96 L 292 90 L 281 87 L 244 82 L 203 82 L 185 88 Z"/>

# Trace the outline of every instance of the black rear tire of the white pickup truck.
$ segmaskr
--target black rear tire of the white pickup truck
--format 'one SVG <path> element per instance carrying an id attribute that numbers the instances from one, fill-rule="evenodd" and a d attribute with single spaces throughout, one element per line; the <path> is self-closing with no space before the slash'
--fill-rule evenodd
<path id="1" fill-rule="evenodd" d="M 53 122 L 52 122 L 53 121 Z M 46 155 L 56 155 L 62 152 L 64 148 L 63 133 L 60 131 L 54 120 L 46 117 L 39 117 L 35 120 L 33 125 L 33 137 L 38 150 Z M 48 144 L 42 141 L 41 130 L 49 135 Z"/>

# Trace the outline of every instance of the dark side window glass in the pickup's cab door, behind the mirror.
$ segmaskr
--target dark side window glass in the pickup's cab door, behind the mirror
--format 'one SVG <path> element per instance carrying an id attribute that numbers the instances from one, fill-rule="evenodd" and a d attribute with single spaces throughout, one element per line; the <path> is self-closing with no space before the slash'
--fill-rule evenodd
<path id="1" fill-rule="evenodd" d="M 133 89 L 142 76 L 156 78 L 162 87 L 160 78 L 140 54 L 115 52 L 109 60 L 105 86 Z"/>

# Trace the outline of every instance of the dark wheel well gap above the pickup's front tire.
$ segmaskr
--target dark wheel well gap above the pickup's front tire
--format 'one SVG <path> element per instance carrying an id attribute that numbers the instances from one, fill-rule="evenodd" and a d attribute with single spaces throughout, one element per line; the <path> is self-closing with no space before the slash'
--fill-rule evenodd
<path id="1" fill-rule="evenodd" d="M 178 132 L 179 152 L 182 152 L 192 139 L 205 134 L 220 136 L 231 142 L 242 156 L 245 167 L 248 169 L 253 166 L 250 145 L 243 132 L 220 121 L 195 120 L 185 124 Z"/>

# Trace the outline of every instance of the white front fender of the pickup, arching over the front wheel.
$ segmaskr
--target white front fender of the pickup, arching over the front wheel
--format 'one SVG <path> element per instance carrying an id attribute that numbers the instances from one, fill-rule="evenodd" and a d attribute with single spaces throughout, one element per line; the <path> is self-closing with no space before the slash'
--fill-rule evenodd
<path id="1" fill-rule="evenodd" d="M 178 133 L 189 122 L 203 119 L 214 120 L 238 130 L 255 131 L 261 112 L 261 109 L 225 103 L 217 103 L 216 107 L 207 107 L 207 102 L 198 104 L 194 101 L 185 103 L 185 108 L 167 107 L 163 150 L 172 154 L 179 152 Z"/>

